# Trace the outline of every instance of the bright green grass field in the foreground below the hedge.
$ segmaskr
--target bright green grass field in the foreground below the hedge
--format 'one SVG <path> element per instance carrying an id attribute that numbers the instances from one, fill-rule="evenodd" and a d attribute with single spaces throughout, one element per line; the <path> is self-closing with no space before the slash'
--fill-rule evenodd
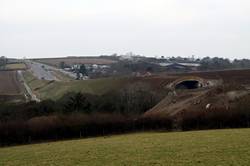
<path id="1" fill-rule="evenodd" d="M 138 133 L 0 148 L 0 165 L 249 165 L 250 129 Z"/>

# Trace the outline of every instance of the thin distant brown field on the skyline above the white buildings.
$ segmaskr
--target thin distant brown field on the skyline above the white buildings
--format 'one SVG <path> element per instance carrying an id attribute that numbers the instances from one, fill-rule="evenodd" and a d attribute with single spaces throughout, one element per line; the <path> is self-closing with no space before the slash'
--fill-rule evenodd
<path id="1" fill-rule="evenodd" d="M 87 58 L 87 57 L 70 57 L 70 58 L 46 58 L 46 59 L 36 59 L 35 61 L 56 66 L 58 67 L 60 62 L 64 62 L 67 65 L 73 64 L 100 64 L 100 65 L 109 65 L 116 63 L 114 60 L 105 59 L 105 58 Z"/>

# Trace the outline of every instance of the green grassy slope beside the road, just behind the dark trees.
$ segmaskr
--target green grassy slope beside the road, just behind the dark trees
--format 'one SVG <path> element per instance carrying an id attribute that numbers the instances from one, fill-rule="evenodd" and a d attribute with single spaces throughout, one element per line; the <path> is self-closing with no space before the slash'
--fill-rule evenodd
<path id="1" fill-rule="evenodd" d="M 59 99 L 68 92 L 83 92 L 101 95 L 105 92 L 121 88 L 128 82 L 125 77 L 102 78 L 91 80 L 72 81 L 46 81 L 39 80 L 29 71 L 24 78 L 39 99 Z"/>

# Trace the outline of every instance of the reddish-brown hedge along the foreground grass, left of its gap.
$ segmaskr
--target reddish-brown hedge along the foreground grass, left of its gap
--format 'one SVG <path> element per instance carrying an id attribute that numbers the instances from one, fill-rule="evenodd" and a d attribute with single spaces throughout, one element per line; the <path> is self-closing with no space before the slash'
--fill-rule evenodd
<path id="1" fill-rule="evenodd" d="M 61 140 L 105 136 L 135 131 L 172 128 L 170 119 L 145 119 L 114 113 L 50 115 L 30 120 L 0 123 L 1 146 L 27 144 L 45 140 Z"/>

